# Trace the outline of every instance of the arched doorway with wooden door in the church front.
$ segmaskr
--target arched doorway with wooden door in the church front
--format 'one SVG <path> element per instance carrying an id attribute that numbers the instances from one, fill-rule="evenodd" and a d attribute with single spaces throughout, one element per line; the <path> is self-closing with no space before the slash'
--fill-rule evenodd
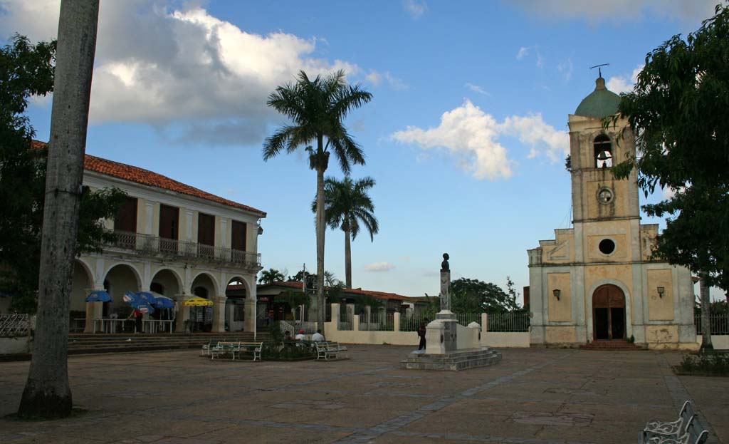
<path id="1" fill-rule="evenodd" d="M 617 286 L 599 286 L 593 293 L 593 338 L 625 339 L 625 294 Z"/>

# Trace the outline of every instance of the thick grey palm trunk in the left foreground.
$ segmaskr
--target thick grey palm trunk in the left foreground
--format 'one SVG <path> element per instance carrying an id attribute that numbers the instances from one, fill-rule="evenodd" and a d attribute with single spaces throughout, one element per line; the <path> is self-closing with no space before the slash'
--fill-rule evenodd
<path id="1" fill-rule="evenodd" d="M 69 301 L 97 23 L 98 0 L 61 2 L 38 315 L 33 359 L 17 410 L 23 418 L 64 418 L 73 405 L 68 371 Z"/>

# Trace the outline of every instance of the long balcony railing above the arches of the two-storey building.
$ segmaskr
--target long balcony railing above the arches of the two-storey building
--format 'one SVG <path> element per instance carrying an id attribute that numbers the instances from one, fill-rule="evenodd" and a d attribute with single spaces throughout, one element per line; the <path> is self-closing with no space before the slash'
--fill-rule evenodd
<path id="1" fill-rule="evenodd" d="M 260 253 L 214 247 L 187 240 L 166 239 L 152 234 L 114 231 L 117 239 L 106 247 L 136 251 L 148 256 L 173 256 L 179 258 L 203 259 L 225 262 L 241 267 L 260 267 Z"/>

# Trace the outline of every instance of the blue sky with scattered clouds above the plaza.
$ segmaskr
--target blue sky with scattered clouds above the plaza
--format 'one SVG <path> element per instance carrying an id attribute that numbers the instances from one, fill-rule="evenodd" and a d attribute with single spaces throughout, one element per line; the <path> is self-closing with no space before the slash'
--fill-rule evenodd
<path id="1" fill-rule="evenodd" d="M 453 279 L 508 275 L 521 294 L 526 250 L 571 226 L 566 123 L 593 91 L 590 66 L 628 91 L 646 54 L 716 1 L 102 0 L 87 153 L 264 210 L 263 266 L 313 270 L 316 173 L 301 151 L 263 161 L 286 123 L 265 102 L 300 70 L 343 69 L 373 93 L 346 126 L 380 223 L 352 243 L 353 286 L 437 294 L 448 252 Z M 0 0 L 0 39 L 55 37 L 59 4 Z M 37 139 L 50 104 L 29 107 Z M 334 162 L 327 175 L 343 177 Z M 325 256 L 342 280 L 343 237 L 327 231 Z"/>

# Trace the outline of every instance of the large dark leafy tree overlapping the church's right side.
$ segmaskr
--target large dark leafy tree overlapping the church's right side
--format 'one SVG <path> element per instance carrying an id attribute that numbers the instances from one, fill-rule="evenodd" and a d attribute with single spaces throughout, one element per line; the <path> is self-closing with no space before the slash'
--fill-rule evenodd
<path id="1" fill-rule="evenodd" d="M 729 290 L 729 9 L 685 39 L 676 35 L 645 59 L 619 114 L 636 132 L 633 168 L 645 194 L 668 188 L 673 196 L 647 204 L 649 215 L 668 216 L 653 256 L 699 273 Z M 608 118 L 604 125 L 614 124 Z"/>

